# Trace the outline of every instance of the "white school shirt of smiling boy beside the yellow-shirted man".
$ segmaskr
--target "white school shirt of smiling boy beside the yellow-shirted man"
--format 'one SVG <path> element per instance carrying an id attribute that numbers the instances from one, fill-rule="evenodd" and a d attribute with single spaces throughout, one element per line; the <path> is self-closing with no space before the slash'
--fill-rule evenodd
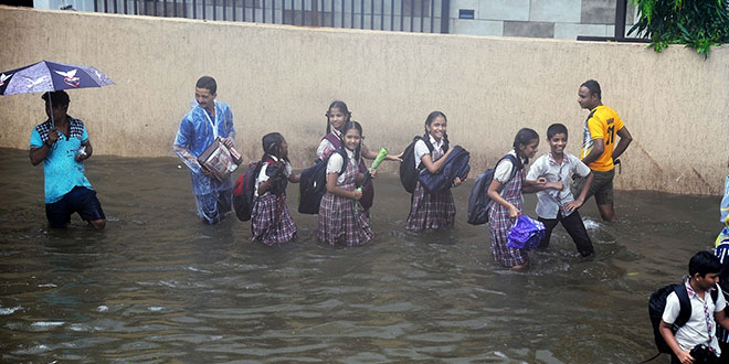
<path id="1" fill-rule="evenodd" d="M 547 189 L 537 192 L 537 215 L 539 217 L 557 218 L 560 204 L 563 207 L 566 203 L 574 201 L 572 189 L 570 189 L 572 174 L 588 176 L 588 174 L 590 174 L 590 168 L 582 163 L 580 159 L 568 152 L 564 152 L 561 164 L 558 164 L 557 161 L 554 161 L 552 153 L 546 153 L 537 158 L 531 164 L 529 173 L 527 173 L 527 180 L 536 181 L 538 178 L 543 176 L 547 179 L 547 182 L 561 181 L 563 185 L 561 191 Z M 567 217 L 573 212 L 574 210 L 569 212 L 562 210 L 562 216 Z"/>

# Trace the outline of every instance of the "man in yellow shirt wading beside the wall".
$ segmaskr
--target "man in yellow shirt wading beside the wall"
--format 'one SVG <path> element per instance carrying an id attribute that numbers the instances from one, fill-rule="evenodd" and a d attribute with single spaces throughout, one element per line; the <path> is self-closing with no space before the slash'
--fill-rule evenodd
<path id="1" fill-rule="evenodd" d="M 594 195 L 602 220 L 614 222 L 616 218 L 613 206 L 613 178 L 615 176 L 613 161 L 627 149 L 633 137 L 617 113 L 602 105 L 602 92 L 596 81 L 590 79 L 580 85 L 578 103 L 583 109 L 590 110 L 590 115 L 584 121 L 580 158 L 592 170 L 594 181 L 585 199 Z M 620 137 L 617 144 L 615 144 L 615 135 Z M 577 182 L 574 188 L 582 189 L 581 182 L 583 181 Z"/>

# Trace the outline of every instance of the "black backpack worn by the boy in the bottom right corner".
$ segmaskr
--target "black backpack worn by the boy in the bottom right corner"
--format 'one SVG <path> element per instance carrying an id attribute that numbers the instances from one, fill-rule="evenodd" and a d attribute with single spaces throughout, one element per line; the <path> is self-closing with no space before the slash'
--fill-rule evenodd
<path id="1" fill-rule="evenodd" d="M 651 318 L 651 324 L 653 325 L 653 336 L 656 342 L 656 347 L 658 347 L 658 352 L 667 354 L 673 353 L 673 351 L 668 344 L 666 344 L 663 335 L 661 335 L 658 328 L 661 326 L 663 311 L 666 309 L 666 298 L 668 298 L 670 292 L 676 292 L 676 296 L 678 296 L 678 302 L 680 303 L 680 311 L 678 312 L 678 317 L 670 328 L 670 332 L 675 334 L 678 328 L 685 325 L 686 322 L 688 322 L 688 319 L 691 317 L 691 302 L 688 299 L 688 292 L 686 291 L 686 286 L 684 283 L 668 285 L 651 295 L 651 299 L 648 299 L 648 317 Z M 715 303 L 717 301 L 718 293 L 718 288 L 711 291 L 711 299 Z"/>

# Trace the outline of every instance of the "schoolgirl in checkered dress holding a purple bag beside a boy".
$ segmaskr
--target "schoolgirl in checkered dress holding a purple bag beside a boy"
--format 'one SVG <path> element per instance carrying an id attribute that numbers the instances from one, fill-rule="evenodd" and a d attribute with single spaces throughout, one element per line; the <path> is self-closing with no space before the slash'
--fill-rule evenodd
<path id="1" fill-rule="evenodd" d="M 560 182 L 546 183 L 543 179 L 525 181 L 524 165 L 529 163 L 529 158 L 535 157 L 538 147 L 539 135 L 537 131 L 528 128 L 519 130 L 514 138 L 514 150 L 507 153 L 515 157 L 516 165 L 510 159 L 503 158 L 496 164 L 494 180 L 488 186 L 488 196 L 492 199 L 488 211 L 492 254 L 494 260 L 513 269 L 524 269 L 529 265 L 529 256 L 526 250 L 506 245 L 509 229 L 514 221 L 521 214 L 522 186 L 541 185 L 547 189 L 562 189 Z"/>

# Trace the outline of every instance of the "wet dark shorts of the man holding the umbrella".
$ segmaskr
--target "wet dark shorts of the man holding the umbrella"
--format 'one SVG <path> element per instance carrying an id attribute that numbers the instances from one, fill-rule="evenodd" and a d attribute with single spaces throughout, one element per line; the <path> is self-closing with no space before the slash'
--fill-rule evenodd
<path id="1" fill-rule="evenodd" d="M 66 227 L 73 213 L 78 213 L 87 222 L 106 220 L 96 191 L 86 188 L 75 186 L 61 200 L 45 204 L 45 216 L 51 227 Z"/>

